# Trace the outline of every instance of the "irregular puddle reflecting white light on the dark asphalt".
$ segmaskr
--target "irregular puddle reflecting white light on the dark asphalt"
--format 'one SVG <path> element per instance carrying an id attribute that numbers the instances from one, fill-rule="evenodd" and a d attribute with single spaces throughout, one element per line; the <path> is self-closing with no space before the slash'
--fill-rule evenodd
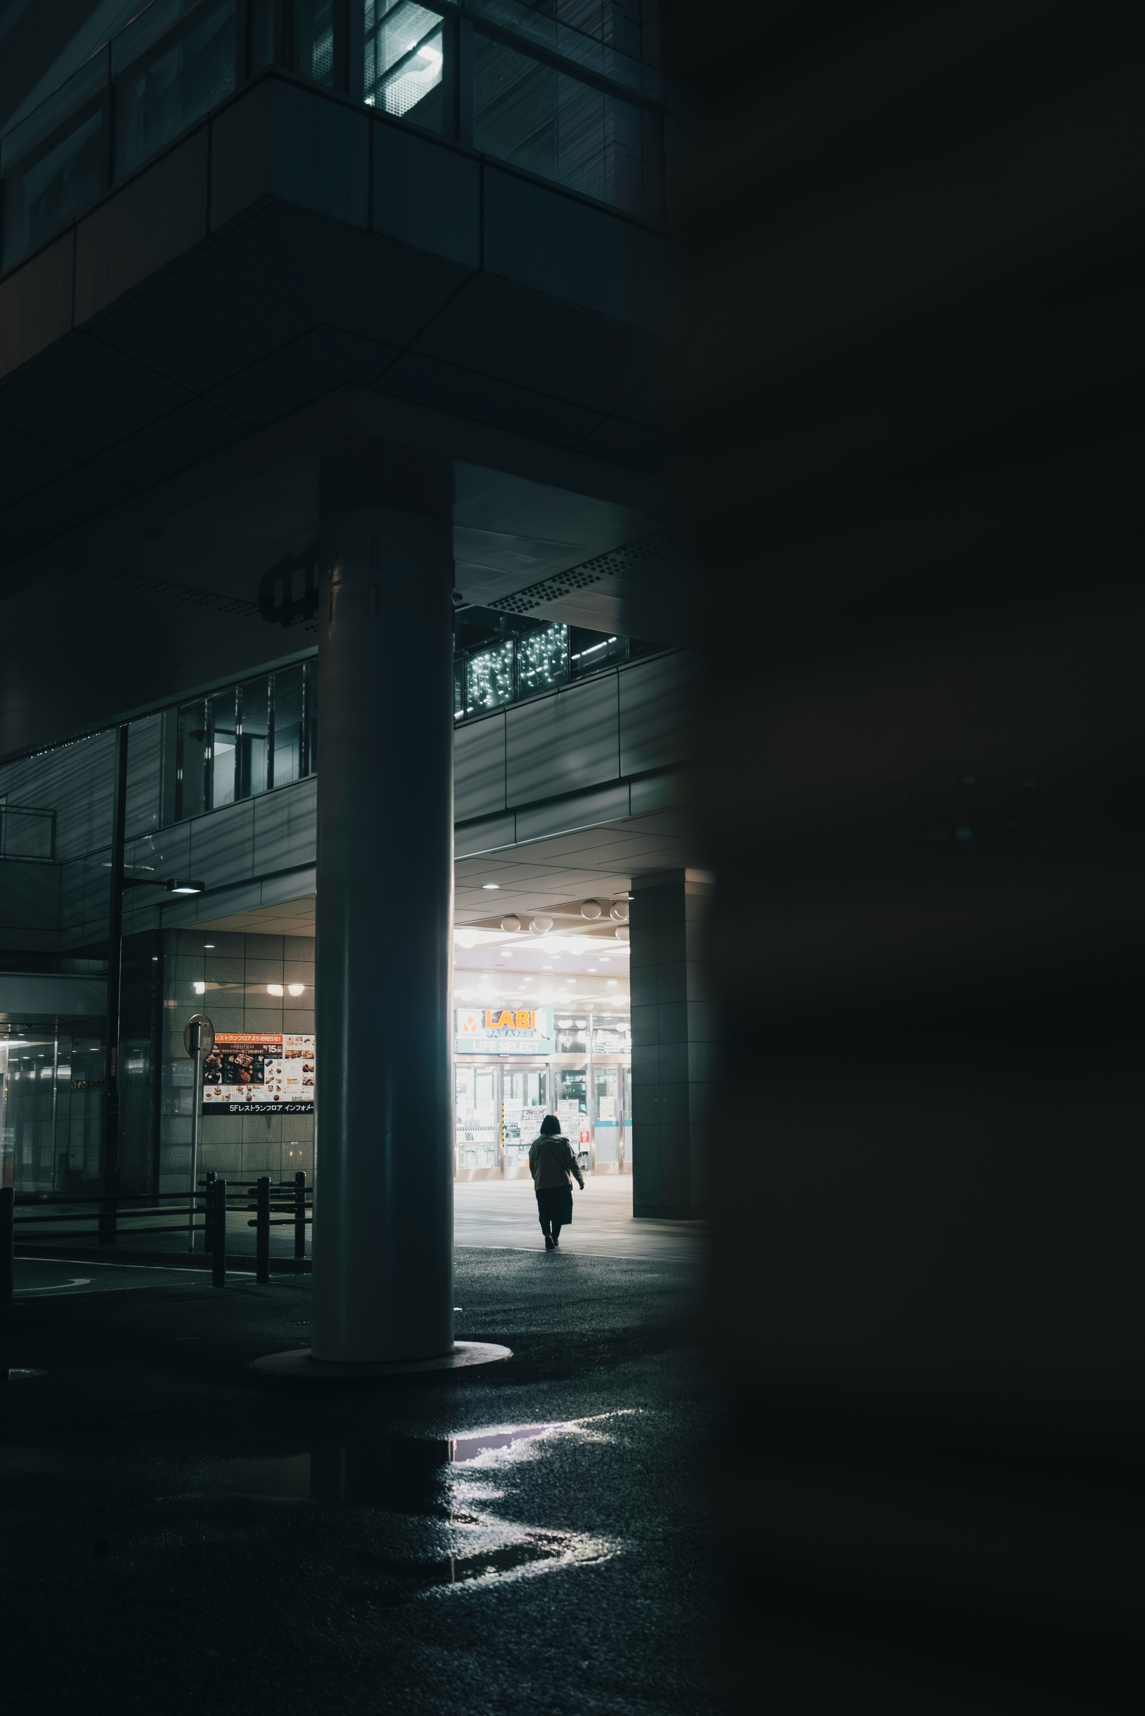
<path id="1" fill-rule="evenodd" d="M 584 1435 L 591 1423 L 352 1441 L 278 1460 L 235 1460 L 216 1469 L 215 1488 L 235 1496 L 374 1510 L 379 1529 L 366 1562 L 402 1587 L 388 1601 L 409 1601 L 415 1594 L 410 1586 L 457 1586 L 613 1555 L 616 1544 L 603 1539 L 474 1512 L 501 1495 L 493 1484 L 506 1464 L 530 1455 L 546 1436 Z M 453 1476 L 458 1465 L 469 1469 L 465 1483 Z M 458 1500 L 467 1505 L 458 1507 Z"/>

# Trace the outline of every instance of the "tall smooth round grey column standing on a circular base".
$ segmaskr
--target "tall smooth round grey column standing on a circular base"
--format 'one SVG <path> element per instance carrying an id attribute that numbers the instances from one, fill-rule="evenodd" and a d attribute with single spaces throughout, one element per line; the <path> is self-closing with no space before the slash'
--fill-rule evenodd
<path id="1" fill-rule="evenodd" d="M 328 450 L 318 702 L 312 1354 L 453 1347 L 451 472 Z"/>

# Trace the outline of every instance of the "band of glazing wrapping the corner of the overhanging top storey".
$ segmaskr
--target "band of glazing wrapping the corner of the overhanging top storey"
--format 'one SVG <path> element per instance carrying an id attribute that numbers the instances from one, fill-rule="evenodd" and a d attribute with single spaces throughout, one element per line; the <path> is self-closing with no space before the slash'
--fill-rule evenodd
<path id="1" fill-rule="evenodd" d="M 77 69 L 65 50 L 60 86 L 15 110 L 0 137 L 0 264 L 45 244 L 273 63 L 348 94 L 355 60 L 359 100 L 379 113 L 465 144 L 472 124 L 472 146 L 494 160 L 656 218 L 664 84 L 604 39 L 628 27 L 608 22 L 613 12 L 587 0 L 151 0 Z M 472 29 L 463 57 L 462 21 Z"/>

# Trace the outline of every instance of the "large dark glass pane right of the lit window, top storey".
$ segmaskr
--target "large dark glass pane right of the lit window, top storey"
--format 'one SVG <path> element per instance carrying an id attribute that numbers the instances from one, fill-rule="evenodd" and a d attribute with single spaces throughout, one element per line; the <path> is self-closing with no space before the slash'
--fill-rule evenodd
<path id="1" fill-rule="evenodd" d="M 644 208 L 639 110 L 481 34 L 474 148 L 601 202 Z"/>

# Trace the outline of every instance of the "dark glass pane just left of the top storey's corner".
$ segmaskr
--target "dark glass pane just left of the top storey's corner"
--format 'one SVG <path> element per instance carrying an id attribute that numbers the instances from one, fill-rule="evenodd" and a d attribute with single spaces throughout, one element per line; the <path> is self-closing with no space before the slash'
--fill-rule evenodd
<path id="1" fill-rule="evenodd" d="M 154 0 L 112 43 L 115 170 L 130 172 L 235 88 L 235 0 Z"/>

